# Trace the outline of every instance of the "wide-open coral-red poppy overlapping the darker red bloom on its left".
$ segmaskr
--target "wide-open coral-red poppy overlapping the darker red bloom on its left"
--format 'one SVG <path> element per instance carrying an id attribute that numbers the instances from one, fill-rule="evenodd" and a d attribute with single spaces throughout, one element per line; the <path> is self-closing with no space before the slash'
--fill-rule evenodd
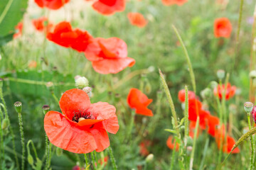
<path id="1" fill-rule="evenodd" d="M 119 38 L 95 38 L 87 46 L 85 57 L 100 74 L 116 74 L 135 64 L 134 59 L 127 57 L 127 44 Z"/>

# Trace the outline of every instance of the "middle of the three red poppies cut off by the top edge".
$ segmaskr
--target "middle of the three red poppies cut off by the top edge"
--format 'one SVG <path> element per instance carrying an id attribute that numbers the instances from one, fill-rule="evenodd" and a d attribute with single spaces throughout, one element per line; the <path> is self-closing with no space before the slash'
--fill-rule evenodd
<path id="1" fill-rule="evenodd" d="M 125 1 L 126 0 L 98 0 L 92 4 L 92 8 L 102 15 L 112 15 L 115 12 L 124 11 Z"/>

